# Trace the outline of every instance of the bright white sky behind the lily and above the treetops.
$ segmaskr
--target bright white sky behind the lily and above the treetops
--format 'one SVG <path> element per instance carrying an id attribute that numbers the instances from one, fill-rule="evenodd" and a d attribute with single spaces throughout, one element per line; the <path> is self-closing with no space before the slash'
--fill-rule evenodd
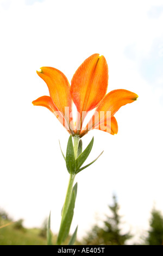
<path id="1" fill-rule="evenodd" d="M 163 211 L 163 3 L 109 0 L 0 0 L 1 186 L 0 207 L 27 227 L 39 226 L 52 211 L 58 232 L 68 173 L 68 132 L 48 109 L 32 101 L 48 95 L 36 74 L 53 66 L 71 78 L 93 53 L 109 65 L 108 92 L 128 89 L 139 99 L 115 115 L 119 131 L 95 137 L 91 167 L 78 174 L 72 231 L 82 237 L 95 216 L 108 213 L 115 192 L 123 220 L 136 237 L 148 228 L 155 202 Z M 136 238 L 135 238 L 136 241 Z"/>

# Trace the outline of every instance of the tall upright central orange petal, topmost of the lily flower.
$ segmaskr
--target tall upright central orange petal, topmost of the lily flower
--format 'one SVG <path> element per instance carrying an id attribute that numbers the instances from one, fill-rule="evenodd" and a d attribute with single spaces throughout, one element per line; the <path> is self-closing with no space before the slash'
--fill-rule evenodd
<path id="1" fill-rule="evenodd" d="M 104 56 L 93 54 L 79 66 L 71 81 L 71 96 L 82 115 L 103 99 L 108 88 L 108 65 Z"/>

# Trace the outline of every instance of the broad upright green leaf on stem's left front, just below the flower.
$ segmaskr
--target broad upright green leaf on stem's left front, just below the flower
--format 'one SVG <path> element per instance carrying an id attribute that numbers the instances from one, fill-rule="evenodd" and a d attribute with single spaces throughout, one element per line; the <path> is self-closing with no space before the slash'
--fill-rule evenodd
<path id="1" fill-rule="evenodd" d="M 76 159 L 74 156 L 74 149 L 72 143 L 72 137 L 68 139 L 67 143 L 67 151 L 66 151 L 66 167 L 68 173 L 75 174 L 76 173 Z"/>

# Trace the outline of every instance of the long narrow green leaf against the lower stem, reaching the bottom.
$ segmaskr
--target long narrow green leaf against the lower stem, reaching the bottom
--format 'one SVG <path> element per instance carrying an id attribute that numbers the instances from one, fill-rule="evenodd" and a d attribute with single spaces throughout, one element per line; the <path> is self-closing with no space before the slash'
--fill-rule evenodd
<path id="1" fill-rule="evenodd" d="M 76 193 L 75 191 L 73 191 L 71 202 L 70 202 L 70 205 L 68 206 L 66 216 L 61 223 L 61 227 L 60 227 L 58 239 L 57 239 L 57 245 L 61 245 L 61 243 L 63 243 L 68 236 L 68 233 L 71 227 L 72 218 L 73 218 L 73 210 L 74 210 L 75 202 L 76 202 Z"/>

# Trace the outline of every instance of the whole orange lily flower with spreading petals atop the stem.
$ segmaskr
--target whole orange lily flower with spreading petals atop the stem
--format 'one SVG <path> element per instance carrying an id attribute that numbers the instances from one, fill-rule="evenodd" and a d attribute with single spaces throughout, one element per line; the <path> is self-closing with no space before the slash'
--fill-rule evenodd
<path id="1" fill-rule="evenodd" d="M 49 95 L 32 103 L 48 108 L 72 136 L 82 138 L 89 130 L 98 129 L 111 133 L 118 132 L 114 114 L 120 107 L 137 99 L 137 94 L 124 89 L 108 88 L 108 65 L 104 56 L 93 54 L 75 72 L 71 86 L 66 76 L 58 69 L 42 67 L 37 74 L 46 82 Z M 72 115 L 72 103 L 77 108 L 77 120 Z M 92 109 L 95 113 L 86 127 L 83 121 Z M 109 113 L 109 114 L 108 114 Z"/>

